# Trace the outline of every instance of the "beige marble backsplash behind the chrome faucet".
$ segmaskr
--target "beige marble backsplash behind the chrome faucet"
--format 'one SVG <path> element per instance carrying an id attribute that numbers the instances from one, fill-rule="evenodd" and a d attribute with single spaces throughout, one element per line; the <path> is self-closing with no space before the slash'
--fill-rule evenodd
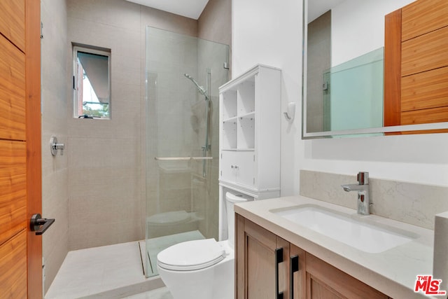
<path id="1" fill-rule="evenodd" d="M 357 183 L 356 174 L 300 170 L 300 195 L 356 209 L 356 192 L 341 185 Z M 448 187 L 369 178 L 372 214 L 434 230 L 435 214 L 448 211 Z"/>

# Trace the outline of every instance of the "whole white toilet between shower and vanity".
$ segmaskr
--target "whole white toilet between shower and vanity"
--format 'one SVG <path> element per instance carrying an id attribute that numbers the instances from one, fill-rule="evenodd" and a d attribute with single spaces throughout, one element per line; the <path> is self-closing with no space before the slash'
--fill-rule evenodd
<path id="1" fill-rule="evenodd" d="M 182 242 L 160 251 L 157 267 L 174 299 L 234 298 L 235 216 L 233 204 L 244 195 L 225 193 L 228 239 Z"/>

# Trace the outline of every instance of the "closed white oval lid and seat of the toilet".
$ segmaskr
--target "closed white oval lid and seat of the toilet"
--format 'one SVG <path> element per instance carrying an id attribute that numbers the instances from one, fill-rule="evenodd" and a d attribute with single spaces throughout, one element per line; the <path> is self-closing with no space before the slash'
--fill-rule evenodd
<path id="1" fill-rule="evenodd" d="M 200 270 L 219 263 L 225 258 L 225 250 L 215 239 L 182 242 L 160 251 L 159 267 L 167 270 Z"/>

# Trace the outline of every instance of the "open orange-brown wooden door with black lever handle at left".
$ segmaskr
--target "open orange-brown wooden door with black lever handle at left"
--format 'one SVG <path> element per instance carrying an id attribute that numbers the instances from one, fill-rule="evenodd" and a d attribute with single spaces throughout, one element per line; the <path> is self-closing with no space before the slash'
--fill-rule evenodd
<path id="1" fill-rule="evenodd" d="M 40 0 L 0 1 L 0 294 L 42 298 Z"/>

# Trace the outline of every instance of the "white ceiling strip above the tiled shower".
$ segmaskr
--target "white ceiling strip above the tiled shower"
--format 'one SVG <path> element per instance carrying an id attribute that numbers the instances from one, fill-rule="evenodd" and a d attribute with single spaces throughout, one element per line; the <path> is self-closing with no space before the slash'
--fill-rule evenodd
<path id="1" fill-rule="evenodd" d="M 199 19 L 202 11 L 209 0 L 126 0 L 159 9 L 160 11 L 167 11 L 176 15 L 183 15 L 187 18 Z"/>

